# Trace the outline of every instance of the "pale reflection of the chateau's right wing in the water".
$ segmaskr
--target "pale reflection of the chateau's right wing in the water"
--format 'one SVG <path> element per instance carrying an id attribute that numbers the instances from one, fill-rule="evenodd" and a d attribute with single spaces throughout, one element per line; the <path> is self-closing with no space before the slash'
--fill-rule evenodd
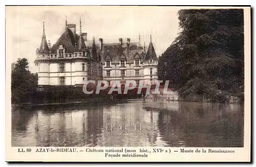
<path id="1" fill-rule="evenodd" d="M 154 146 L 158 136 L 157 119 L 157 113 L 148 113 L 141 104 L 108 106 L 104 109 L 103 145 Z"/>

